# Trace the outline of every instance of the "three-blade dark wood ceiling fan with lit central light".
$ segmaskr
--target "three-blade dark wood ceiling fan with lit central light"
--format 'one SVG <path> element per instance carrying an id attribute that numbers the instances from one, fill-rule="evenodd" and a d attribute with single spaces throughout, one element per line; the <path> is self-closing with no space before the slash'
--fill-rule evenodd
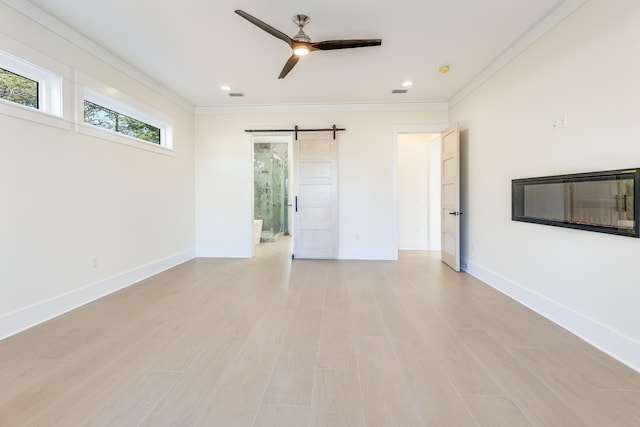
<path id="1" fill-rule="evenodd" d="M 289 74 L 289 71 L 293 69 L 302 56 L 308 55 L 309 52 L 314 50 L 350 49 L 354 47 L 380 46 L 382 44 L 381 39 L 326 40 L 322 42 L 312 42 L 303 30 L 304 26 L 311 20 L 307 15 L 295 15 L 293 17 L 293 22 L 298 26 L 299 31 L 298 34 L 291 38 L 282 31 L 278 31 L 271 25 L 249 15 L 247 12 L 242 10 L 236 10 L 235 12 L 247 21 L 251 22 L 253 25 L 284 41 L 293 50 L 291 58 L 289 58 L 287 63 L 284 64 L 284 68 L 278 76 L 279 79 L 283 79 L 287 74 Z"/>

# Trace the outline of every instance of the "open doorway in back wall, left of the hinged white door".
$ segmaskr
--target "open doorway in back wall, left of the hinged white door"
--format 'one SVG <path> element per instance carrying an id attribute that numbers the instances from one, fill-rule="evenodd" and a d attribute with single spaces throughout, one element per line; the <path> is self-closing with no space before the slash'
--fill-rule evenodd
<path id="1" fill-rule="evenodd" d="M 398 134 L 398 250 L 440 250 L 440 168 L 439 133 Z"/>

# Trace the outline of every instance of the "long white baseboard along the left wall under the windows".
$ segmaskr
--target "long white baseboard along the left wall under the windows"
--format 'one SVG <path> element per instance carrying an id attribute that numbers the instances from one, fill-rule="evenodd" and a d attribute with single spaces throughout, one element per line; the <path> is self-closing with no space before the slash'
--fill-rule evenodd
<path id="1" fill-rule="evenodd" d="M 115 291 L 131 286 L 147 277 L 168 270 L 195 257 L 192 249 L 151 262 L 83 288 L 51 298 L 0 317 L 0 339 L 53 319 Z"/>

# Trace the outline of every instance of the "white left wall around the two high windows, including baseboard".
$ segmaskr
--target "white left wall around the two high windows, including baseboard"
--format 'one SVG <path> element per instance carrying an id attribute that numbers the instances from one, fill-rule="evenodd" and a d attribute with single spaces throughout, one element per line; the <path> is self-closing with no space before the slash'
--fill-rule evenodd
<path id="1" fill-rule="evenodd" d="M 192 109 L 4 3 L 0 33 L 170 116 L 175 148 L 162 155 L 0 114 L 2 338 L 193 257 L 195 201 Z"/>

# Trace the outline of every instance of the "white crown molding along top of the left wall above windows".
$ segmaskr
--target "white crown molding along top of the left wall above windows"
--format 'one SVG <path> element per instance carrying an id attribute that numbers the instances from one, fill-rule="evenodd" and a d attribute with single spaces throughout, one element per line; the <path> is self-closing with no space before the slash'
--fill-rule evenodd
<path id="1" fill-rule="evenodd" d="M 114 55 L 98 43 L 80 34 L 78 31 L 69 27 L 67 24 L 48 14 L 38 6 L 26 0 L 0 0 L 10 8 L 23 14 L 27 18 L 42 25 L 43 27 L 53 31 L 68 42 L 78 46 L 79 48 L 89 52 L 98 59 L 127 74 L 143 86 L 153 90 L 154 92 L 164 96 L 170 101 L 175 102 L 189 112 L 194 111 L 194 105 L 182 96 L 173 92 L 163 84 L 157 82 L 149 75 L 143 73 L 131 64 L 127 63 L 120 57 Z"/>

